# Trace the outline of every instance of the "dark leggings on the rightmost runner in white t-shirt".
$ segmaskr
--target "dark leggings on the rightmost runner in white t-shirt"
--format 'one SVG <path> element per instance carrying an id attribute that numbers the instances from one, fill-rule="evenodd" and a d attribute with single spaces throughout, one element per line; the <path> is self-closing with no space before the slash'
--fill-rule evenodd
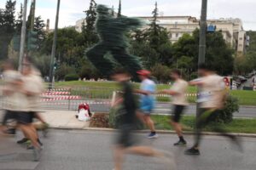
<path id="1" fill-rule="evenodd" d="M 195 144 L 194 147 L 197 148 L 201 144 L 201 131 L 204 127 L 214 120 L 218 116 L 219 110 L 214 109 L 201 109 L 200 116 L 196 120 L 195 124 Z M 219 125 L 212 127 L 213 132 L 219 133 L 220 135 L 230 138 L 232 140 L 236 139 L 236 136 L 228 133 L 224 128 L 219 127 Z"/>

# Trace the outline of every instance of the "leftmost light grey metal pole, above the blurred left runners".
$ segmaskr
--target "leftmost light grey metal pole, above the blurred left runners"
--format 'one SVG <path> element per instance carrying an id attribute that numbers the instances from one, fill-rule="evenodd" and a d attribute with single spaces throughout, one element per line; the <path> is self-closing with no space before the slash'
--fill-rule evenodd
<path id="1" fill-rule="evenodd" d="M 25 39 L 26 39 L 26 6 L 27 6 L 27 0 L 24 0 L 24 7 L 23 7 L 23 14 L 22 14 L 22 27 L 21 27 L 21 35 L 20 35 L 19 71 L 22 71 L 22 62 L 23 62 Z"/>

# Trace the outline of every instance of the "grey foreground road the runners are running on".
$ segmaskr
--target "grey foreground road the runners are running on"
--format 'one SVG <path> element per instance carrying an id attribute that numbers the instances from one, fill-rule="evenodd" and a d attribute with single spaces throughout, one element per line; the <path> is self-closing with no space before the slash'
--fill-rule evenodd
<path id="1" fill-rule="evenodd" d="M 139 134 L 143 138 L 144 134 Z M 40 162 L 32 162 L 32 154 L 14 143 L 15 139 L 2 138 L 0 169 L 26 170 L 112 170 L 113 133 L 93 131 L 54 130 L 44 141 Z M 189 144 L 192 136 L 187 137 Z M 160 134 L 159 139 L 143 139 L 142 143 L 176 156 L 177 170 L 255 170 L 256 139 L 244 138 L 244 153 L 234 150 L 223 138 L 207 136 L 201 146 L 201 156 L 184 156 L 185 148 L 173 147 L 177 137 Z M 8 142 L 9 141 L 9 142 Z M 159 160 L 142 156 L 127 156 L 125 170 L 164 170 Z"/>

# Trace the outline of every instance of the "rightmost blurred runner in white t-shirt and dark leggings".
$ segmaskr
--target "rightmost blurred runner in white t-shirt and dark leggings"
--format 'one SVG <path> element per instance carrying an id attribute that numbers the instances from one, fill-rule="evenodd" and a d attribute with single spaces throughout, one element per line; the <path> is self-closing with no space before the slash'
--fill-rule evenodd
<path id="1" fill-rule="evenodd" d="M 198 72 L 201 78 L 189 82 L 189 84 L 201 88 L 201 94 L 197 101 L 200 103 L 200 116 L 196 120 L 195 144 L 191 149 L 185 151 L 186 155 L 200 155 L 201 130 L 212 122 L 215 116 L 218 116 L 218 112 L 224 107 L 227 94 L 223 77 L 218 76 L 209 66 L 200 65 Z M 235 135 L 228 133 L 218 125 L 213 130 L 230 138 L 241 149 Z"/>

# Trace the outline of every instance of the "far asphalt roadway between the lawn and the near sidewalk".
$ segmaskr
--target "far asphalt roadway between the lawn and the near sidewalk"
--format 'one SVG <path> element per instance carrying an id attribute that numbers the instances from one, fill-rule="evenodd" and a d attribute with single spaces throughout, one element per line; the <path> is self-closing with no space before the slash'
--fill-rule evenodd
<path id="1" fill-rule="evenodd" d="M 50 110 L 78 110 L 78 105 L 82 103 L 98 103 L 99 104 L 90 104 L 91 111 L 102 111 L 102 112 L 108 112 L 109 111 L 109 105 L 102 104 L 101 102 L 104 100 L 71 100 L 71 101 L 51 101 L 48 104 L 43 104 L 44 109 L 50 109 Z M 105 100 L 107 101 L 107 100 Z M 172 105 L 170 103 L 157 103 L 155 105 L 155 114 L 170 114 L 172 111 Z M 195 105 L 189 105 L 186 110 L 184 111 L 185 115 L 195 115 L 196 106 Z M 234 113 L 235 117 L 247 117 L 252 118 L 256 117 L 256 106 L 240 106 L 240 111 Z"/>

